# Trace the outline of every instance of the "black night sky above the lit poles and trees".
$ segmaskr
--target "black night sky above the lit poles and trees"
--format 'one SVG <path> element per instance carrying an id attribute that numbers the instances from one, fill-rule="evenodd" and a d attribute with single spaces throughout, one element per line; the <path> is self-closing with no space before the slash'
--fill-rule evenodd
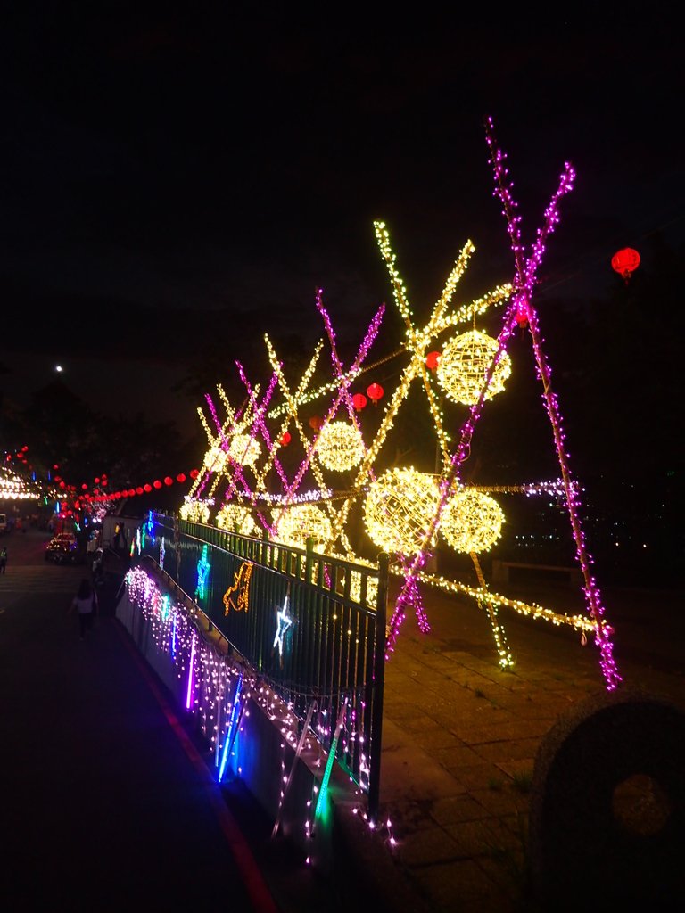
<path id="1" fill-rule="evenodd" d="M 199 403 L 171 389 L 215 321 L 233 371 L 246 326 L 321 337 L 317 288 L 355 344 L 394 308 L 375 219 L 420 316 L 467 240 L 469 291 L 511 281 L 485 117 L 526 244 L 564 163 L 576 172 L 541 300 L 601 297 L 619 247 L 683 240 L 681 42 L 668 17 L 649 21 L 658 5 L 514 25 L 95 7 L 27 0 L 4 16 L 5 397 L 59 362 L 94 408 L 195 427 Z"/>

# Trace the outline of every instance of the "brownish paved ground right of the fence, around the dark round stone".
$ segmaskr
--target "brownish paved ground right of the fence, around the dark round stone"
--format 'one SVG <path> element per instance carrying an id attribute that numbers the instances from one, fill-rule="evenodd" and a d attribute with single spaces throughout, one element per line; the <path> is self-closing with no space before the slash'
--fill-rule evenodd
<path id="1" fill-rule="evenodd" d="M 531 598 L 530 586 L 507 589 Z M 568 587 L 546 595 L 557 609 L 583 610 L 582 593 Z M 621 688 L 685 710 L 682 593 L 604 598 Z M 502 612 L 516 662 L 501 671 L 490 619 L 474 603 L 434 592 L 427 615 L 427 635 L 406 617 L 386 666 L 381 805 L 398 841 L 395 866 L 433 911 L 537 909 L 529 883 L 535 759 L 560 718 L 606 694 L 598 651 L 570 628 Z"/>

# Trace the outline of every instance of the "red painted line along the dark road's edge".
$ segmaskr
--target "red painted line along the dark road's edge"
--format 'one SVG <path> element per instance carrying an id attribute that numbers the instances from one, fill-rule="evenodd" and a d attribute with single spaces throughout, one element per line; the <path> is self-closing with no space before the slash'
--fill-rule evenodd
<path id="1" fill-rule="evenodd" d="M 195 770 L 201 776 L 205 784 L 207 797 L 216 813 L 216 817 L 226 836 L 228 845 L 231 847 L 231 851 L 237 866 L 242 873 L 243 881 L 248 888 L 248 895 L 255 906 L 255 910 L 258 911 L 258 913 L 279 913 L 279 908 L 274 902 L 273 897 L 271 897 L 269 887 L 261 876 L 257 861 L 255 860 L 254 855 L 252 855 L 252 851 L 248 842 L 243 837 L 236 819 L 229 812 L 223 793 L 218 784 L 214 781 L 210 771 L 207 769 L 207 765 L 202 756 L 195 749 L 195 745 L 188 738 L 188 734 L 185 731 L 183 724 L 174 713 L 174 708 L 163 694 L 150 667 L 144 662 L 135 645 L 133 645 L 130 635 L 118 619 L 115 619 L 115 621 L 121 639 L 131 653 L 134 662 L 141 670 L 142 676 L 145 678 L 150 690 L 153 692 L 157 703 L 162 708 L 162 712 L 168 720 L 169 725 L 174 729 L 176 738 L 181 742 L 185 753 L 189 760 L 195 765 Z"/>

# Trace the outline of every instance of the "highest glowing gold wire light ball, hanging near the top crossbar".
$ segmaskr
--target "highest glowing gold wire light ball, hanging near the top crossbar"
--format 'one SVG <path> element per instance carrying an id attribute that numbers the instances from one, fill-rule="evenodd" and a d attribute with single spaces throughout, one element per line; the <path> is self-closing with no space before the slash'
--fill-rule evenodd
<path id="1" fill-rule="evenodd" d="M 497 340 L 486 333 L 470 330 L 449 340 L 437 362 L 437 383 L 455 403 L 478 403 L 485 378 L 498 349 Z M 485 399 L 501 393 L 511 374 L 511 358 L 502 352 L 492 373 Z"/>

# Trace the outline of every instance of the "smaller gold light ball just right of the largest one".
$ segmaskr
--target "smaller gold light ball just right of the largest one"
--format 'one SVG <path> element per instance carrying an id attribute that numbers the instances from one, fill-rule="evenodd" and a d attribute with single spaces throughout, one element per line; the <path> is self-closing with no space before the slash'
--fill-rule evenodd
<path id="1" fill-rule="evenodd" d="M 501 536 L 504 513 L 490 495 L 461 488 L 449 498 L 440 517 L 440 535 L 455 551 L 488 551 Z"/>

